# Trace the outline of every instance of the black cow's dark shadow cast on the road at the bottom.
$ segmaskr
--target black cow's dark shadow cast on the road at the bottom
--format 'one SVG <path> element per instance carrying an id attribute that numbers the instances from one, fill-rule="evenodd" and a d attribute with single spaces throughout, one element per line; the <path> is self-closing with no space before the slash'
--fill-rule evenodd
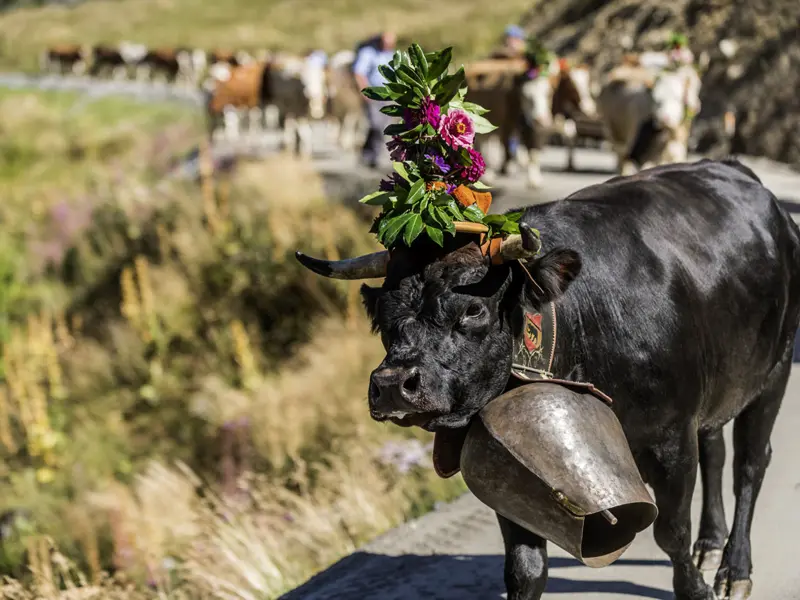
<path id="1" fill-rule="evenodd" d="M 386 556 L 356 552 L 340 560 L 281 600 L 500 600 L 505 597 L 503 556 L 406 554 Z M 615 565 L 670 568 L 667 560 L 620 559 Z M 552 557 L 549 595 L 617 594 L 634 599 L 669 600 L 671 590 L 624 580 L 571 579 L 563 569 L 583 567 L 577 560 Z M 588 567 L 584 567 L 588 568 Z"/>

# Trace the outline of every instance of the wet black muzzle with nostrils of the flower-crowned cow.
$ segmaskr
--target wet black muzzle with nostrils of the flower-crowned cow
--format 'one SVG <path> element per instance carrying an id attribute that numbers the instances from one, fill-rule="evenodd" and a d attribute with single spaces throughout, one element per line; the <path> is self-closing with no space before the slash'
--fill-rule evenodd
<path id="1" fill-rule="evenodd" d="M 417 367 L 380 367 L 369 380 L 369 410 L 372 417 L 405 419 L 425 413 L 422 374 Z"/>

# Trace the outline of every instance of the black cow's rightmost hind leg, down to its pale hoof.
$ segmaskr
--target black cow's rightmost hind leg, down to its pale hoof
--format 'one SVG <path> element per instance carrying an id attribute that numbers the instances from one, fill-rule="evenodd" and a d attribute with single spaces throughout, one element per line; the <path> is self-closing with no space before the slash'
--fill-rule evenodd
<path id="1" fill-rule="evenodd" d="M 720 598 L 745 600 L 753 587 L 750 528 L 758 493 L 772 457 L 770 436 L 791 372 L 791 348 L 770 374 L 758 399 L 733 422 L 733 491 L 736 512 L 714 589 Z"/>

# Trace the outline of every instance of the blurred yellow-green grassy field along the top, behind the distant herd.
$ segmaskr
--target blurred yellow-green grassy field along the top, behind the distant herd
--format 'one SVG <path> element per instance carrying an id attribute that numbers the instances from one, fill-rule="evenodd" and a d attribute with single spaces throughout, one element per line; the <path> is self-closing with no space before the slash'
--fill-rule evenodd
<path id="1" fill-rule="evenodd" d="M 381 28 L 435 48 L 454 45 L 459 59 L 496 44 L 534 0 L 96 0 L 75 7 L 26 8 L 0 16 L 8 67 L 36 68 L 39 52 L 63 42 L 135 40 L 204 48 L 328 51 L 351 48 Z"/>

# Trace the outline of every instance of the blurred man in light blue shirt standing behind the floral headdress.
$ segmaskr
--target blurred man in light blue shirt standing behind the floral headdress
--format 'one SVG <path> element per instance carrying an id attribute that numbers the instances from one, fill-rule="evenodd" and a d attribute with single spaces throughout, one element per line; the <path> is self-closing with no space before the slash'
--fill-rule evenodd
<path id="1" fill-rule="evenodd" d="M 387 65 L 392 60 L 397 38 L 393 32 L 385 31 L 379 37 L 367 40 L 356 49 L 356 58 L 353 62 L 353 75 L 359 89 L 365 87 L 382 86 L 386 83 L 383 75 L 378 71 L 381 65 Z M 369 129 L 367 139 L 362 149 L 362 159 L 372 167 L 378 166 L 379 160 L 387 153 L 383 130 L 392 123 L 392 117 L 381 112 L 385 102 L 364 98 Z"/>

